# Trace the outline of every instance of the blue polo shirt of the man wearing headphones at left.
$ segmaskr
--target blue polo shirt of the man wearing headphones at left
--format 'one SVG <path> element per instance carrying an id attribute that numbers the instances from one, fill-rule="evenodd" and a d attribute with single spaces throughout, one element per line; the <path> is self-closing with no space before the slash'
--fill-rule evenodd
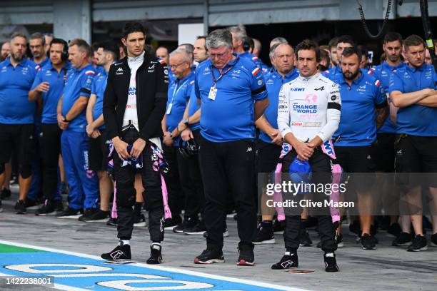
<path id="1" fill-rule="evenodd" d="M 64 91 L 64 76 L 70 68 L 71 65 L 67 62 L 64 68 L 62 68 L 58 73 L 56 68 L 54 68 L 51 62 L 49 62 L 46 66 L 43 66 L 38 73 L 36 73 L 31 90 L 34 90 L 34 88 L 42 82 L 49 82 L 49 91 L 41 93 L 43 102 L 41 114 L 42 123 L 58 123 L 56 109 L 58 107 L 59 98 L 62 96 L 62 91 Z"/>

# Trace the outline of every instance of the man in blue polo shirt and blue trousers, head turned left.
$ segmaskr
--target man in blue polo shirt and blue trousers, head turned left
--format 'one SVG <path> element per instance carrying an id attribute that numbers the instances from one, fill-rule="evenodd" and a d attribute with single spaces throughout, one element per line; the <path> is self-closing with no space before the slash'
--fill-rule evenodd
<path id="1" fill-rule="evenodd" d="M 99 180 L 89 170 L 89 145 L 86 135 L 85 109 L 96 75 L 89 63 L 91 48 L 83 39 L 69 44 L 71 69 L 67 75 L 63 95 L 57 107 L 57 119 L 61 128 L 61 150 L 66 178 L 69 183 L 69 206 L 59 218 L 78 215 L 85 208 L 87 217 L 99 209 Z"/>

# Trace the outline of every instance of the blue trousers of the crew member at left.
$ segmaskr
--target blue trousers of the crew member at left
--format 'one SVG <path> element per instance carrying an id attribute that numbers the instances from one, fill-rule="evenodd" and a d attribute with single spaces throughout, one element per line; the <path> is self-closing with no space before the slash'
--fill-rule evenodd
<path id="1" fill-rule="evenodd" d="M 62 158 L 69 183 L 69 208 L 99 207 L 99 178 L 88 168 L 88 136 L 66 130 L 61 136 Z"/>

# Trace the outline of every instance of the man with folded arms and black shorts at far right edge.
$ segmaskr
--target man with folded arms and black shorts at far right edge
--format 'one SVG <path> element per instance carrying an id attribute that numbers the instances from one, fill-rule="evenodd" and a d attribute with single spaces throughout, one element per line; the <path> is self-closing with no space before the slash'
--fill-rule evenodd
<path id="1" fill-rule="evenodd" d="M 434 204 L 437 201 L 437 74 L 433 66 L 424 63 L 426 46 L 420 36 L 408 36 L 403 49 L 408 66 L 391 74 L 388 90 L 393 105 L 399 108 L 396 173 L 416 173 L 399 175 L 398 183 L 405 189 L 408 205 L 414 208 L 410 210 L 416 237 L 408 251 L 417 252 L 428 249 L 422 214 L 417 210 L 422 205 L 422 185 L 428 186 Z M 437 245 L 437 215 L 432 214 L 431 242 Z"/>

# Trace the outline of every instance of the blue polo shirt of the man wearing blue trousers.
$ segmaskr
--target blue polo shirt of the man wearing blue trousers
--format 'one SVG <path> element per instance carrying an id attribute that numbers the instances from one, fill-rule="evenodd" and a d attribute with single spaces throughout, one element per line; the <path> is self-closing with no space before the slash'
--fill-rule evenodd
<path id="1" fill-rule="evenodd" d="M 80 96 L 89 97 L 91 94 L 91 86 L 93 85 L 96 71 L 94 66 L 89 63 L 84 68 L 72 68 L 67 74 L 64 87 L 64 99 L 62 100 L 62 116 L 69 113 L 71 107 L 79 99 Z M 76 132 L 85 132 L 86 127 L 86 110 L 82 111 L 79 116 L 76 116 L 70 121 L 67 130 Z"/>

